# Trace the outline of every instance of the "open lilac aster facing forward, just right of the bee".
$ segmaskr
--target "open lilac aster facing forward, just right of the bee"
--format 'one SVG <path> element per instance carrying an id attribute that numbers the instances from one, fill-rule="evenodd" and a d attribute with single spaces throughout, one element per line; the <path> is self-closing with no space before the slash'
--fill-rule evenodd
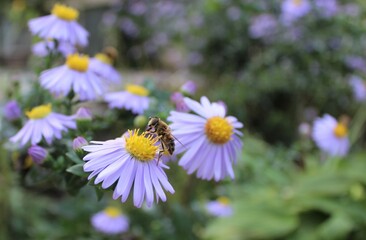
<path id="1" fill-rule="evenodd" d="M 219 181 L 229 175 L 234 178 L 232 164 L 241 152 L 243 127 L 235 117 L 227 116 L 225 107 L 210 103 L 201 97 L 201 103 L 184 98 L 188 108 L 198 114 L 170 112 L 168 121 L 172 134 L 181 142 L 176 143 L 175 153 L 187 150 L 179 165 L 188 174 L 197 171 L 197 177 Z"/>

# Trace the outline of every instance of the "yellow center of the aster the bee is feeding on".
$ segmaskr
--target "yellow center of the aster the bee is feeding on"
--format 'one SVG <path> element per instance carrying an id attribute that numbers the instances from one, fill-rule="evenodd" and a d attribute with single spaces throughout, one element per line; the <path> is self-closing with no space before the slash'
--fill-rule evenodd
<path id="1" fill-rule="evenodd" d="M 153 160 L 159 149 L 159 146 L 155 146 L 158 138 L 154 138 L 147 132 L 139 135 L 139 129 L 128 130 L 128 133 L 129 136 L 125 137 L 127 152 L 140 161 Z"/>

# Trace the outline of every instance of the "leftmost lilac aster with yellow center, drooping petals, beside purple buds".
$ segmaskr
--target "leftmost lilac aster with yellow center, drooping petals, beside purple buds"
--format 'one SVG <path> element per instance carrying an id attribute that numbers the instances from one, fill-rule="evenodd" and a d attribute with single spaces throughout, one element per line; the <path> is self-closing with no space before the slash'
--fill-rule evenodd
<path id="1" fill-rule="evenodd" d="M 20 142 L 21 146 L 28 141 L 36 145 L 42 137 L 51 144 L 54 138 L 61 138 L 62 132 L 76 128 L 73 116 L 52 112 L 51 104 L 37 106 L 27 111 L 25 115 L 29 120 L 15 136 L 10 138 L 11 142 Z"/>

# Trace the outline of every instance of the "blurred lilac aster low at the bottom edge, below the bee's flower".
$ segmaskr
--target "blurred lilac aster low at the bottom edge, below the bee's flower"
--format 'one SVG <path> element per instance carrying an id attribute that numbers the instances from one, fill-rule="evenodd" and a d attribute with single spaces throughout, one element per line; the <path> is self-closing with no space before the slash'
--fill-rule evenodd
<path id="1" fill-rule="evenodd" d="M 129 228 L 128 218 L 116 207 L 107 207 L 93 215 L 91 224 L 98 232 L 110 235 L 124 233 Z"/>

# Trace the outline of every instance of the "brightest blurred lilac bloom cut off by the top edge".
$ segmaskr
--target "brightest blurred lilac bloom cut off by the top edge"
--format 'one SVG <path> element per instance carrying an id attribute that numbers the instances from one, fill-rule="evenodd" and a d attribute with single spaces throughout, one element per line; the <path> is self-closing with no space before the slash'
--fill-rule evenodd
<path id="1" fill-rule="evenodd" d="M 282 21 L 285 25 L 288 25 L 308 14 L 311 5 L 308 0 L 284 0 L 281 9 Z"/>

